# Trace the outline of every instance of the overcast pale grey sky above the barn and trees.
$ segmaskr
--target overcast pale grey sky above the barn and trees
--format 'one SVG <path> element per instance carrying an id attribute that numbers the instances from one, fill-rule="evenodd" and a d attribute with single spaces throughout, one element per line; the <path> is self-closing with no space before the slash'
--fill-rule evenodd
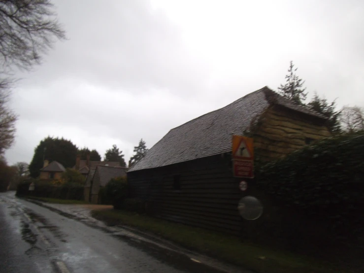
<path id="1" fill-rule="evenodd" d="M 364 106 L 362 0 L 53 0 L 68 40 L 21 74 L 9 164 L 46 136 L 132 156 L 171 128 L 284 82 Z"/>

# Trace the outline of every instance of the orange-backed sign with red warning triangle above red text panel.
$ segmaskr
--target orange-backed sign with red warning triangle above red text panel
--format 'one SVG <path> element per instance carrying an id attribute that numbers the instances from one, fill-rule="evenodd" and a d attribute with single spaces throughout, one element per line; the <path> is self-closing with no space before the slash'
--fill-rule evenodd
<path id="1" fill-rule="evenodd" d="M 254 178 L 253 138 L 232 136 L 232 163 L 235 177 Z"/>

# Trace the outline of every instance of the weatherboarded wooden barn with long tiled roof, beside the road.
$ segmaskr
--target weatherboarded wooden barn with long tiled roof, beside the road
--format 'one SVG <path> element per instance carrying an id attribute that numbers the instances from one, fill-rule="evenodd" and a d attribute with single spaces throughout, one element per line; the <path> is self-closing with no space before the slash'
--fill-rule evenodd
<path id="1" fill-rule="evenodd" d="M 237 235 L 232 135 L 252 136 L 256 156 L 271 160 L 330 136 L 326 122 L 264 87 L 170 130 L 128 171 L 132 197 L 156 217 Z"/>

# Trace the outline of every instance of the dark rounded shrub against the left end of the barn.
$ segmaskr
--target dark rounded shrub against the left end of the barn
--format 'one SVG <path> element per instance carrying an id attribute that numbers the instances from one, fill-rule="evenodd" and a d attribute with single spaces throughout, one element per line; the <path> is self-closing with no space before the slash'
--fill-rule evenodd
<path id="1" fill-rule="evenodd" d="M 126 177 L 112 178 L 105 186 L 106 198 L 115 209 L 123 208 L 128 197 L 128 182 Z"/>

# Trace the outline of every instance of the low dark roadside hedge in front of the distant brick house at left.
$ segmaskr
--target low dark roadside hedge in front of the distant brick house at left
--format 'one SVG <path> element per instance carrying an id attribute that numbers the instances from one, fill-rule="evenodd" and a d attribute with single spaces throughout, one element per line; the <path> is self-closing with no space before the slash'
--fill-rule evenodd
<path id="1" fill-rule="evenodd" d="M 29 191 L 30 184 L 34 182 L 34 191 Z M 67 183 L 64 185 L 54 185 L 50 181 L 31 179 L 19 184 L 17 196 L 36 196 L 57 199 L 83 200 L 84 187 L 79 184 Z"/>

